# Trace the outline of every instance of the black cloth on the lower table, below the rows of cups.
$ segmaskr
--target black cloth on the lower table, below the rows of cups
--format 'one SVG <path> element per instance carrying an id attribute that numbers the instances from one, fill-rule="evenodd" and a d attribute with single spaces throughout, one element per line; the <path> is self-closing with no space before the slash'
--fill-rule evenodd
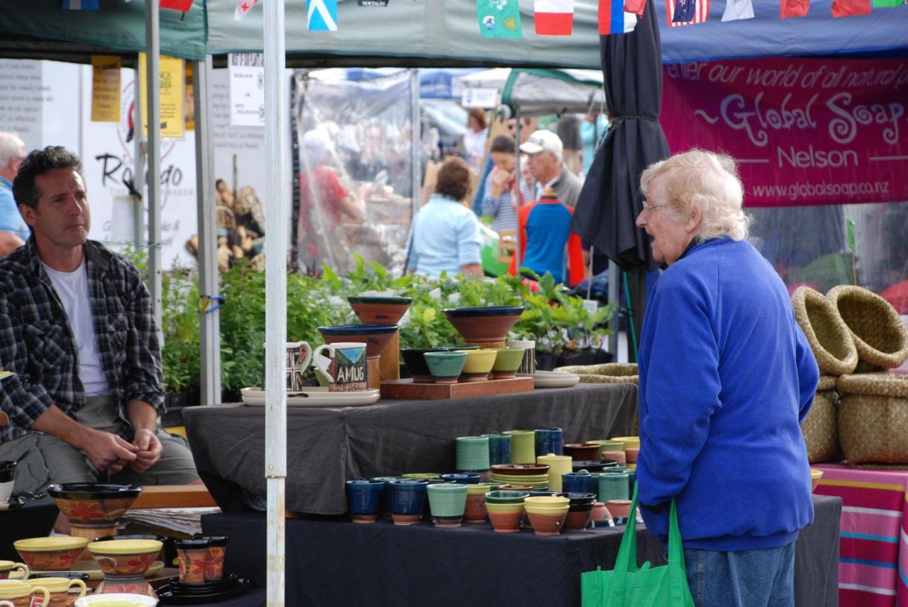
<path id="1" fill-rule="evenodd" d="M 842 501 L 814 496 L 814 525 L 796 544 L 797 607 L 837 604 Z M 324 517 L 286 521 L 286 602 L 294 607 L 462 607 L 580 604 L 580 573 L 615 564 L 623 527 L 537 537 L 491 525 L 437 529 L 387 520 L 354 525 Z M 228 535 L 225 571 L 266 581 L 265 515 L 202 516 L 206 535 Z M 664 564 L 664 550 L 638 525 L 637 557 Z"/>

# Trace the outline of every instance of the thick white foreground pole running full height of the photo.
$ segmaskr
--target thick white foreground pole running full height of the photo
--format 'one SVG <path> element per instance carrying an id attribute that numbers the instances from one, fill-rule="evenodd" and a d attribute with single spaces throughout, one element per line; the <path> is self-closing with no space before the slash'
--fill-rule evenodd
<path id="1" fill-rule="evenodd" d="M 284 604 L 284 479 L 287 477 L 287 208 L 289 149 L 287 79 L 284 74 L 284 0 L 263 2 L 265 149 L 265 478 L 268 486 L 268 607 Z"/>

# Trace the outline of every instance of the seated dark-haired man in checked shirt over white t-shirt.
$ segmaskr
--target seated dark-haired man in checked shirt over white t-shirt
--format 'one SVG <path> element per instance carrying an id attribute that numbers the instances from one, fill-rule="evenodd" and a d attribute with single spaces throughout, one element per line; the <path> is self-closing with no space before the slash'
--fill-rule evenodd
<path id="1" fill-rule="evenodd" d="M 161 352 L 135 267 L 88 240 L 82 163 L 35 150 L 13 183 L 32 237 L 0 260 L 0 459 L 19 460 L 16 491 L 99 478 L 200 482 L 181 438 L 158 425 Z M 58 530 L 64 530 L 58 524 Z"/>

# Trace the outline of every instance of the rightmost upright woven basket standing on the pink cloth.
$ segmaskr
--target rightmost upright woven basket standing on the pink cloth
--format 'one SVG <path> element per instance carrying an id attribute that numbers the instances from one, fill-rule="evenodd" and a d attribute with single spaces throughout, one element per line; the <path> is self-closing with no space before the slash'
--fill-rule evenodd
<path id="1" fill-rule="evenodd" d="M 908 376 L 858 373 L 841 376 L 839 438 L 852 465 L 908 463 Z"/>

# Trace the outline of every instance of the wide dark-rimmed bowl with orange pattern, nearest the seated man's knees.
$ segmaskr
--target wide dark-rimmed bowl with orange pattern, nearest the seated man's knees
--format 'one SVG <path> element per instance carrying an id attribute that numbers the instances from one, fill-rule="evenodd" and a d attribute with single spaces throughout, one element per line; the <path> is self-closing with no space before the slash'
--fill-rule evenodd
<path id="1" fill-rule="evenodd" d="M 142 493 L 136 485 L 64 483 L 47 487 L 60 512 L 76 526 L 107 527 L 115 524 Z"/>

